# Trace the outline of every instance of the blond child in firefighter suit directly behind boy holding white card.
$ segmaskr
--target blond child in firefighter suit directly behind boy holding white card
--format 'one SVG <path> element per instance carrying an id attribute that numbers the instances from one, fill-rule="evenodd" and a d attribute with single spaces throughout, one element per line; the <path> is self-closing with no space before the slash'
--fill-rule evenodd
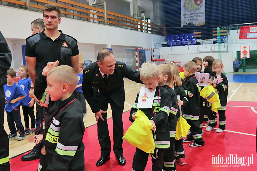
<path id="1" fill-rule="evenodd" d="M 173 73 L 170 64 L 158 65 L 160 80 L 159 86 L 162 86 L 170 93 L 171 98 L 171 110 L 168 116 L 169 132 L 170 132 L 170 148 L 165 149 L 163 168 L 167 171 L 176 170 L 175 164 L 175 135 L 176 135 L 176 124 L 178 118 L 176 114 L 178 112 L 177 95 L 175 91 L 170 87 L 170 84 L 174 82 Z"/>

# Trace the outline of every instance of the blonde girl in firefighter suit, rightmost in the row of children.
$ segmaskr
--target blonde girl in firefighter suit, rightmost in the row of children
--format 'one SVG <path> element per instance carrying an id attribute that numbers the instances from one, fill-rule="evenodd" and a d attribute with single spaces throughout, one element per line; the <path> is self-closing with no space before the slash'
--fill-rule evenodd
<path id="1" fill-rule="evenodd" d="M 216 88 L 219 91 L 219 98 L 220 98 L 220 104 L 221 107 L 218 108 L 218 114 L 219 114 L 219 127 L 216 130 L 216 133 L 222 133 L 226 127 L 226 105 L 227 105 L 227 98 L 228 98 L 228 79 L 227 77 L 221 72 L 223 70 L 224 66 L 222 64 L 222 61 L 219 59 L 215 59 L 212 63 L 212 70 L 214 71 L 212 74 L 214 75 L 215 79 L 219 76 L 222 78 L 222 82 L 219 84 L 214 84 L 213 87 Z M 209 126 L 206 128 L 206 130 L 213 130 L 216 126 L 217 122 L 217 115 L 216 117 L 212 114 L 210 114 L 210 120 L 214 120 L 214 123 L 210 123 Z"/>

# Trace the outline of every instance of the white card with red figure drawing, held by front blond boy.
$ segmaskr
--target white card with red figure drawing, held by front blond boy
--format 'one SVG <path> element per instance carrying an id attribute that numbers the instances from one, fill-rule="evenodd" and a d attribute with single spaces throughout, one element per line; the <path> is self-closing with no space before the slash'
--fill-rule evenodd
<path id="1" fill-rule="evenodd" d="M 139 96 L 138 96 L 137 108 L 139 109 L 152 108 L 155 91 L 156 91 L 156 88 L 154 91 L 149 91 L 146 87 L 141 87 Z"/>

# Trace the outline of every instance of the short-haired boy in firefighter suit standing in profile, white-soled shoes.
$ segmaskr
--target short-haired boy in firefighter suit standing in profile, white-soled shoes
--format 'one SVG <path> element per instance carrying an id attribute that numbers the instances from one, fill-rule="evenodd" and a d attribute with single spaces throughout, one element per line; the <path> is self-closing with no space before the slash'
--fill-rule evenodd
<path id="1" fill-rule="evenodd" d="M 193 61 L 188 61 L 183 65 L 184 74 L 186 77 L 185 93 L 188 99 L 188 105 L 184 107 L 184 118 L 190 127 L 190 134 L 184 143 L 194 142 L 189 144 L 190 147 L 203 146 L 202 129 L 200 128 L 199 115 L 200 115 L 200 87 L 198 80 L 195 77 L 196 64 Z"/>

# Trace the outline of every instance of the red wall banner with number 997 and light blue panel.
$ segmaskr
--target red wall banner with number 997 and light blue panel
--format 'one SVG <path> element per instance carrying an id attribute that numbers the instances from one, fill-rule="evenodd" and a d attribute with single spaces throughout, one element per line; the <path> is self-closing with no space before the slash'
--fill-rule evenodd
<path id="1" fill-rule="evenodd" d="M 257 38 L 257 26 L 240 27 L 239 39 L 254 39 Z"/>

